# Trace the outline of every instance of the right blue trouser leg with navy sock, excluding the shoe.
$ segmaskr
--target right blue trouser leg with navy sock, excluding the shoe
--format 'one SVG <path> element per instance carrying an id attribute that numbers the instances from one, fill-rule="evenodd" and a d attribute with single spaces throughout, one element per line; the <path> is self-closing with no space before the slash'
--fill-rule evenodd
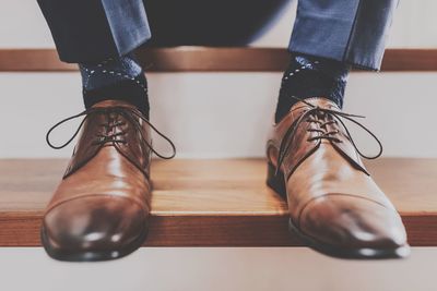
<path id="1" fill-rule="evenodd" d="M 351 68 L 379 70 L 399 0 L 300 0 L 276 122 L 300 98 L 324 96 L 339 107 Z"/>

